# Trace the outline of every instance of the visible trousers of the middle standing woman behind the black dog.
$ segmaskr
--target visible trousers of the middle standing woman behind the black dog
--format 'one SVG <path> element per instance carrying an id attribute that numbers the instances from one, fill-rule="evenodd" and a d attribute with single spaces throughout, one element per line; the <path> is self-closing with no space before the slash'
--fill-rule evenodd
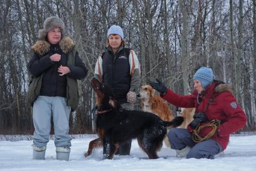
<path id="1" fill-rule="evenodd" d="M 125 103 L 125 104 L 121 104 L 121 107 L 125 108 L 126 110 L 134 110 L 134 104 L 130 104 L 130 103 Z M 130 155 L 130 151 L 131 151 L 131 141 L 132 140 L 127 140 L 125 142 L 123 142 L 118 151 L 116 152 L 116 154 L 119 155 Z"/>

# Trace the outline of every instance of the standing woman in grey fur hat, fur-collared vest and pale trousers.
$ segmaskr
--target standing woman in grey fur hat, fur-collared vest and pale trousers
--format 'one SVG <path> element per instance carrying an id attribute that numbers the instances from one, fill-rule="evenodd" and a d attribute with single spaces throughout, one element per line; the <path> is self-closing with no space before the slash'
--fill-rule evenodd
<path id="1" fill-rule="evenodd" d="M 63 37 L 64 23 L 48 17 L 39 30 L 39 40 L 27 67 L 31 73 L 28 101 L 33 106 L 33 159 L 45 159 L 46 145 L 54 122 L 57 160 L 69 160 L 69 114 L 78 105 L 77 79 L 87 75 L 87 69 L 69 37 Z"/>

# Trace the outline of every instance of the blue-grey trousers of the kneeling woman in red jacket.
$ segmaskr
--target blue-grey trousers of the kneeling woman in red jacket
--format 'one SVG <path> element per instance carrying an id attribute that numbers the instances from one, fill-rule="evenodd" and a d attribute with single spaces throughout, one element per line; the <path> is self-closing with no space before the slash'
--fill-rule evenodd
<path id="1" fill-rule="evenodd" d="M 187 129 L 172 128 L 167 134 L 170 142 L 170 148 L 183 149 L 186 146 L 192 148 L 186 158 L 210 158 L 222 152 L 222 146 L 217 141 L 205 140 L 195 143 L 192 139 L 192 134 Z"/>

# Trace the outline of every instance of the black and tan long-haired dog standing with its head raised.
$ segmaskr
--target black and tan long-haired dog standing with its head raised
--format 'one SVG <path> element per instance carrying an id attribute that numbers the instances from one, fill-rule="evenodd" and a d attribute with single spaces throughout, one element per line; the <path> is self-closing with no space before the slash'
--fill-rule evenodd
<path id="1" fill-rule="evenodd" d="M 113 99 L 111 87 L 97 79 L 92 79 L 91 85 L 97 95 L 96 129 L 99 138 L 90 141 L 85 157 L 92 154 L 93 148 L 103 145 L 104 159 L 111 159 L 122 142 L 137 138 L 149 159 L 158 158 L 157 151 L 161 149 L 166 127 L 176 127 L 183 122 L 183 117 L 166 122 L 152 113 L 125 110 Z"/>

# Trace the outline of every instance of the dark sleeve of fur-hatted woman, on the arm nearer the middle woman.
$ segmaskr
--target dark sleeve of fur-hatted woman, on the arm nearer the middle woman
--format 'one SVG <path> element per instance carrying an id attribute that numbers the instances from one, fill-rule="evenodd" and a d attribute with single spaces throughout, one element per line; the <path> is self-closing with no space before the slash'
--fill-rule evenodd
<path id="1" fill-rule="evenodd" d="M 67 73 L 67 76 L 75 79 L 83 79 L 87 75 L 87 68 L 86 65 L 83 63 L 81 58 L 78 55 L 78 52 L 75 54 L 75 66 L 68 66 L 70 72 Z"/>

